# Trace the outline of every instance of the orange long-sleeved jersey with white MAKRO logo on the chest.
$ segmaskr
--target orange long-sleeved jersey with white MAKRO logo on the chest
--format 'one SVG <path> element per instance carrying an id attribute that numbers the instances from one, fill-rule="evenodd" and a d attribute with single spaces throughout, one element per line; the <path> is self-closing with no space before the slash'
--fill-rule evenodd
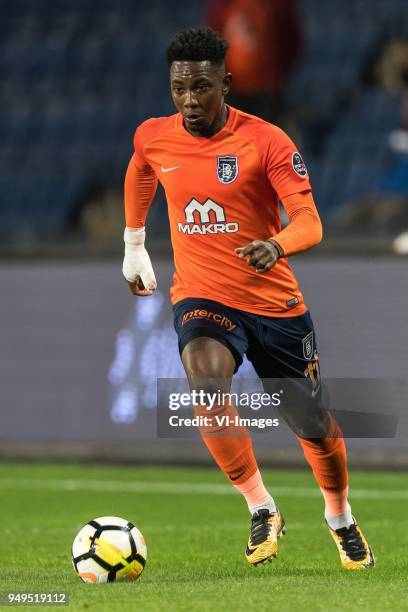
<path id="1" fill-rule="evenodd" d="M 313 236 L 321 226 L 306 168 L 278 127 L 228 111 L 225 126 L 211 138 L 192 136 L 180 114 L 138 127 L 125 181 L 126 224 L 144 225 L 158 179 L 174 251 L 173 304 L 199 297 L 266 316 L 303 314 L 306 306 L 286 257 L 260 274 L 235 249 L 274 237 L 289 255 L 319 241 L 309 236 L 309 226 Z M 288 203 L 290 218 L 302 215 L 283 231 L 279 200 Z"/>

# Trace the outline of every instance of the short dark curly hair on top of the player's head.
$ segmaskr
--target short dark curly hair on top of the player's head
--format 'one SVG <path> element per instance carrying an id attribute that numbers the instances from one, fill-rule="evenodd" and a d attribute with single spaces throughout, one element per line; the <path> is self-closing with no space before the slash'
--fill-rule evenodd
<path id="1" fill-rule="evenodd" d="M 228 43 L 211 28 L 186 28 L 177 32 L 166 51 L 169 66 L 173 62 L 209 61 L 221 65 L 225 60 Z"/>

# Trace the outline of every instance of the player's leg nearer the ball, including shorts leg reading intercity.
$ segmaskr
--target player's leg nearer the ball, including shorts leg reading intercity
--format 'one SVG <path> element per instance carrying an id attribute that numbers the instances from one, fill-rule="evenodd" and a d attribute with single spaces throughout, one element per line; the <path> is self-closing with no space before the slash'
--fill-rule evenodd
<path id="1" fill-rule="evenodd" d="M 229 392 L 232 376 L 248 345 L 239 313 L 210 300 L 191 299 L 176 304 L 174 314 L 180 354 L 191 389 Z M 199 410 L 206 412 L 204 407 Z M 236 414 L 235 407 L 226 403 L 211 410 L 214 418 Z M 222 426 L 200 428 L 200 433 L 220 469 L 245 497 L 251 516 L 259 514 L 258 522 L 252 524 L 255 543 L 247 559 L 250 563 L 265 561 L 276 553 L 268 522 L 276 513 L 276 506 L 262 482 L 248 431 L 228 427 L 224 420 Z M 282 528 L 283 523 L 280 531 Z"/>

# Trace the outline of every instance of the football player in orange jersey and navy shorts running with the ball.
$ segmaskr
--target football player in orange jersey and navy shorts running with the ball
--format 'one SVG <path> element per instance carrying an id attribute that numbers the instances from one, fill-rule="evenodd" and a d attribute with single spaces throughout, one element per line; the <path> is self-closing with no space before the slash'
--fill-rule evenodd
<path id="1" fill-rule="evenodd" d="M 313 323 L 288 261 L 322 239 L 307 169 L 282 130 L 225 103 L 232 81 L 227 48 L 203 27 L 179 32 L 168 47 L 177 113 L 136 130 L 125 179 L 123 274 L 136 296 L 156 289 L 144 243 L 160 181 L 174 251 L 175 328 L 191 389 L 229 391 L 244 355 L 261 379 L 293 381 L 295 401 L 281 413 L 321 490 L 342 566 L 366 569 L 374 557 L 348 503 L 344 438 L 322 405 Z M 279 202 L 289 217 L 284 229 Z M 236 408 L 219 405 L 212 412 L 233 416 Z M 200 413 L 208 414 L 205 406 Z M 263 484 L 249 433 L 227 429 L 200 433 L 248 504 L 246 559 L 264 563 L 276 556 L 285 522 Z"/>

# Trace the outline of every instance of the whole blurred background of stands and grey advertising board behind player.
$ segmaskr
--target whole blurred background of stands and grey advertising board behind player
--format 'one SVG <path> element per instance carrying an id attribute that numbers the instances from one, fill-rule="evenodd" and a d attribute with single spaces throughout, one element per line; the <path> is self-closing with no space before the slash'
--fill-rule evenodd
<path id="1" fill-rule="evenodd" d="M 156 378 L 182 376 L 161 192 L 148 226 L 159 291 L 135 302 L 121 276 L 133 133 L 173 112 L 165 48 L 175 31 L 203 21 L 204 4 L 0 0 L 4 459 L 208 460 L 196 440 L 156 436 Z M 294 267 L 323 375 L 404 378 L 408 272 L 397 252 L 408 251 L 407 3 L 297 6 L 304 43 L 284 123 L 326 237 Z M 395 438 L 351 440 L 352 461 L 405 468 L 407 431 L 402 415 Z M 257 444 L 265 463 L 303 465 L 287 432 Z"/>

